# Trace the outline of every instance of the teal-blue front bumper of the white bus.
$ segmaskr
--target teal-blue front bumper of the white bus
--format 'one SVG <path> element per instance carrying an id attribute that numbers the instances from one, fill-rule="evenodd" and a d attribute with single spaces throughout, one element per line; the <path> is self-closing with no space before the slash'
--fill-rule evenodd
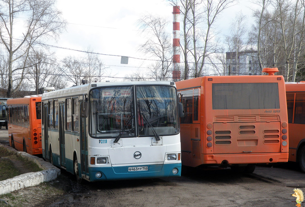
<path id="1" fill-rule="evenodd" d="M 148 166 L 147 171 L 128 172 L 130 167 Z M 178 173 L 174 174 L 173 169 L 178 169 Z M 96 177 L 96 173 L 102 173 L 100 178 Z M 142 166 L 121 166 L 121 167 L 89 167 L 90 181 L 102 180 L 129 180 L 129 179 L 146 179 L 160 177 L 179 177 L 181 176 L 181 163 L 165 164 L 165 165 L 142 165 Z"/>

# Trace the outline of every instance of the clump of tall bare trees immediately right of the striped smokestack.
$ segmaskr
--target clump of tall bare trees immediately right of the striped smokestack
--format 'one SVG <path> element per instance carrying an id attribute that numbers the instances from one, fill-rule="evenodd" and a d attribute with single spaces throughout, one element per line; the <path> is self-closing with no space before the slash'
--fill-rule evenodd
<path id="1" fill-rule="evenodd" d="M 184 79 L 203 75 L 206 60 L 213 59 L 218 52 L 219 41 L 215 36 L 215 22 L 224 9 L 234 5 L 235 0 L 169 0 L 172 5 L 180 6 L 184 30 Z M 181 45 L 182 46 L 182 45 Z"/>

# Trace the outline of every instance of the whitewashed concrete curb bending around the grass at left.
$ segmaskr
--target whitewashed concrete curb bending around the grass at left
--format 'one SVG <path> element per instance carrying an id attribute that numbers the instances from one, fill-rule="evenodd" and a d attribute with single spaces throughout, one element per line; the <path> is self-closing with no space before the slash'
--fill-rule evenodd
<path id="1" fill-rule="evenodd" d="M 49 162 L 44 161 L 42 158 L 20 152 L 12 147 L 0 144 L 0 147 L 9 152 L 13 152 L 17 156 L 21 156 L 29 161 L 35 162 L 42 171 L 35 173 L 25 173 L 13 178 L 0 181 L 0 195 L 19 190 L 24 187 L 36 186 L 43 182 L 55 180 L 60 175 L 60 169 L 56 168 Z"/>

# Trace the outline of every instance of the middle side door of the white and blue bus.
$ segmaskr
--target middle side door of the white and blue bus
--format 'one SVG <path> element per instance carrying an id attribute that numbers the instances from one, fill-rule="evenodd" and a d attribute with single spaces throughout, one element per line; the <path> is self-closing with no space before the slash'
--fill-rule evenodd
<path id="1" fill-rule="evenodd" d="M 59 103 L 59 145 L 60 145 L 60 166 L 66 167 L 66 153 L 65 153 L 65 104 Z"/>

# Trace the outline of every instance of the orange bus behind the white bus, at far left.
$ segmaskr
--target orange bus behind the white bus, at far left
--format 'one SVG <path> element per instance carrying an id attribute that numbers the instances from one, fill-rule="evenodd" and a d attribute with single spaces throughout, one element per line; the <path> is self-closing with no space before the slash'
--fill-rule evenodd
<path id="1" fill-rule="evenodd" d="M 10 146 L 29 154 L 42 154 L 41 95 L 8 99 Z"/>

